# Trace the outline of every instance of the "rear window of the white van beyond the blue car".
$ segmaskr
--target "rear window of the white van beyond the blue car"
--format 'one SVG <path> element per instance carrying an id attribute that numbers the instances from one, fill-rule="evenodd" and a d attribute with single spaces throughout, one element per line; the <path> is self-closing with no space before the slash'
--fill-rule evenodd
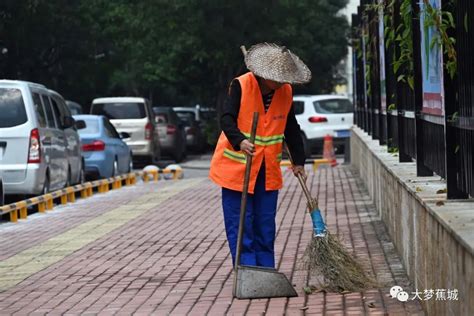
<path id="1" fill-rule="evenodd" d="M 143 103 L 94 103 L 92 113 L 110 120 L 141 119 L 146 117 Z"/>

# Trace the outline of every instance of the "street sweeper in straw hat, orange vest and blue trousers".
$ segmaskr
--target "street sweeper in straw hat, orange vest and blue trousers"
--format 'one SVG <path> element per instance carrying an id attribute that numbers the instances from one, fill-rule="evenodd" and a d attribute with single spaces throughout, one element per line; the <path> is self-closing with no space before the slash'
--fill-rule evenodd
<path id="1" fill-rule="evenodd" d="M 235 263 L 246 155 L 252 168 L 240 263 L 275 267 L 275 216 L 282 187 L 283 142 L 293 158 L 293 173 L 304 178 L 305 153 L 292 107 L 292 84 L 311 79 L 311 71 L 290 50 L 261 43 L 245 51 L 250 72 L 235 78 L 224 102 L 222 133 L 212 157 L 209 177 L 222 187 L 227 240 Z M 259 112 L 255 144 L 250 141 L 253 113 Z"/>

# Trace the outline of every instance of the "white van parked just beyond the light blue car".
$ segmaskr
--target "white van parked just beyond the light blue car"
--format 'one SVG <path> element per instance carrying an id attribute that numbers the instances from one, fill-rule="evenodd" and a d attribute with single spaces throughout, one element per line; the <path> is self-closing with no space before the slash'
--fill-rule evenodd
<path id="1" fill-rule="evenodd" d="M 135 160 L 156 164 L 160 159 L 160 141 L 155 114 L 150 102 L 138 97 L 98 98 L 92 101 L 91 114 L 107 117 L 124 139 Z"/>

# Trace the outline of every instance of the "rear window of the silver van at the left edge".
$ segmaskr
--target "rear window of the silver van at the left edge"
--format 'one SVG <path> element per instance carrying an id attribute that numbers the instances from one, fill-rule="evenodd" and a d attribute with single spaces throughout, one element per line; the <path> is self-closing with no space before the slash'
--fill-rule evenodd
<path id="1" fill-rule="evenodd" d="M 13 127 L 28 120 L 25 102 L 19 89 L 0 88 L 0 128 Z"/>

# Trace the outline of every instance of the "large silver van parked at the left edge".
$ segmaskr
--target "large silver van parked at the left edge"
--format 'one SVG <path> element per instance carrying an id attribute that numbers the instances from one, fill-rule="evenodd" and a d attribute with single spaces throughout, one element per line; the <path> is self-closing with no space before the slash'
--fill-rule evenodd
<path id="1" fill-rule="evenodd" d="M 36 195 L 81 181 L 79 135 L 59 94 L 40 84 L 0 80 L 0 113 L 5 194 Z"/>

